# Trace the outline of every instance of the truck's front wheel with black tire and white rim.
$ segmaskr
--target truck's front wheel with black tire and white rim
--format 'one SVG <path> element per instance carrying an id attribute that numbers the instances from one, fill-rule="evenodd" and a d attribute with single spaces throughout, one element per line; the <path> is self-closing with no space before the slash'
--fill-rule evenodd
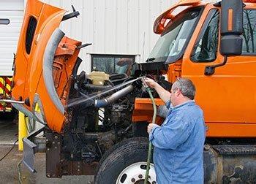
<path id="1" fill-rule="evenodd" d="M 143 183 L 146 174 L 148 138 L 133 137 L 114 145 L 99 161 L 95 184 Z M 157 183 L 151 158 L 148 183 Z"/>

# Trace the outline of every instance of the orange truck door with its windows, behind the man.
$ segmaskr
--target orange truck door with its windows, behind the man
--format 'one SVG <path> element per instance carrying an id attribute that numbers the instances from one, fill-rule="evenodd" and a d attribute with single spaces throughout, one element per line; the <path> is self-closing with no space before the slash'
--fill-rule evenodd
<path id="1" fill-rule="evenodd" d="M 182 77 L 196 85 L 196 101 L 205 113 L 209 137 L 251 137 L 256 129 L 256 10 L 244 10 L 243 53 L 228 57 L 227 64 L 204 74 L 206 66 L 220 64 L 219 9 L 206 7 L 189 42 Z M 233 45 L 230 45 L 232 47 Z M 242 131 L 241 131 L 242 130 Z"/>

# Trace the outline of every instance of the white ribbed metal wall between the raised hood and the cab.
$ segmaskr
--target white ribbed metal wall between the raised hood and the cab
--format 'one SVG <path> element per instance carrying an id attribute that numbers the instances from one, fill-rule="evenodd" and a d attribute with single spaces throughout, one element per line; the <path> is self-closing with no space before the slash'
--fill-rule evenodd
<path id="1" fill-rule="evenodd" d="M 46 3 L 80 12 L 78 18 L 61 23 L 68 37 L 93 45 L 80 52 L 82 67 L 91 69 L 93 53 L 136 55 L 146 60 L 159 35 L 154 20 L 176 0 L 45 0 Z M 143 46 L 144 45 L 144 46 Z"/>

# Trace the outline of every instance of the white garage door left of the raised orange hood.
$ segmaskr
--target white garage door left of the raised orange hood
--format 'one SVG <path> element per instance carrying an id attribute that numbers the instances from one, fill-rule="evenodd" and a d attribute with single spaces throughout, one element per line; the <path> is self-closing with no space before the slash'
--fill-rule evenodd
<path id="1" fill-rule="evenodd" d="M 24 0 L 0 0 L 0 76 L 12 75 L 23 9 Z"/>

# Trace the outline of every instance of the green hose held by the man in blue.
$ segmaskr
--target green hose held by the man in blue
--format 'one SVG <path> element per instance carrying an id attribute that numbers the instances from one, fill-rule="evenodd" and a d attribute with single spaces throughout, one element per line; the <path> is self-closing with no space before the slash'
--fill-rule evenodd
<path id="1" fill-rule="evenodd" d="M 148 87 L 147 83 L 145 82 L 145 78 L 142 78 L 141 81 L 142 81 L 143 85 L 146 87 L 146 91 L 148 91 L 148 94 L 149 94 L 150 99 L 152 101 L 152 105 L 153 105 L 153 109 L 154 109 L 152 123 L 155 123 L 156 122 L 156 117 L 157 117 L 157 105 L 154 101 L 154 97 L 151 93 L 151 89 Z M 149 144 L 148 144 L 147 168 L 146 168 L 146 175 L 145 175 L 144 184 L 147 184 L 147 181 L 148 181 L 148 172 L 149 172 L 149 167 L 150 167 L 151 153 L 152 153 L 152 143 L 149 142 Z"/>

